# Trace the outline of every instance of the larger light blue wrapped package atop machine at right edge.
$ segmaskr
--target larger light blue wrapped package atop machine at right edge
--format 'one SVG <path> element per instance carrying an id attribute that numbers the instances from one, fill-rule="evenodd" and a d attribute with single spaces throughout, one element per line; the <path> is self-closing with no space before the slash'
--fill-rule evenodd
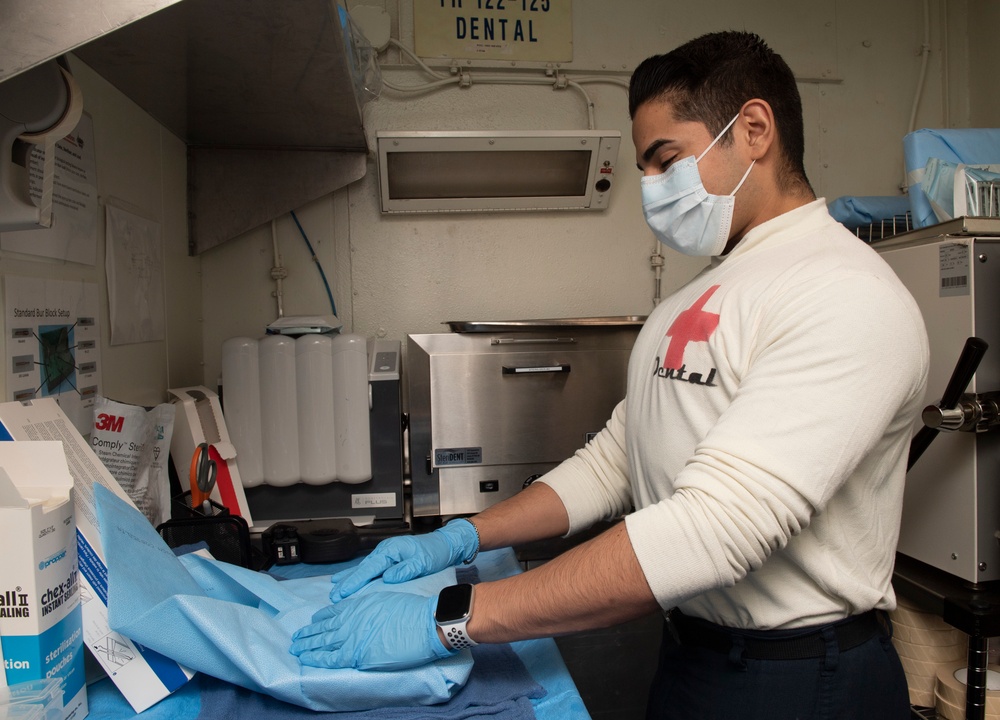
<path id="1" fill-rule="evenodd" d="M 933 157 L 971 165 L 1000 163 L 1000 129 L 916 130 L 903 138 L 903 157 L 913 225 L 934 225 L 937 216 L 920 187 L 928 160 Z"/>

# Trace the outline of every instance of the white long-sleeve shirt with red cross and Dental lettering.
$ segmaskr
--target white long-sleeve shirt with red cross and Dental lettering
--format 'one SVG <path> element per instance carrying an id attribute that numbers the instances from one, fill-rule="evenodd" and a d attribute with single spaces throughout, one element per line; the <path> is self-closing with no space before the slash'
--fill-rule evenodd
<path id="1" fill-rule="evenodd" d="M 607 427 L 545 475 L 570 532 L 626 517 L 664 609 L 791 628 L 895 606 L 928 365 L 912 297 L 822 199 L 661 303 Z"/>

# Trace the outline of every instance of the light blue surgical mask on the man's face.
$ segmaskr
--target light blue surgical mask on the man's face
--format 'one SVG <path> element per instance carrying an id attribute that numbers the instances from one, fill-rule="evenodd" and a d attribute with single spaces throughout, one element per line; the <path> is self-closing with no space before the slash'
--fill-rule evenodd
<path id="1" fill-rule="evenodd" d="M 743 186 L 754 160 L 729 195 L 711 195 L 705 190 L 698 163 L 733 126 L 737 114 L 697 158 L 673 163 L 666 172 L 642 178 L 642 212 L 657 239 L 685 255 L 721 255 L 729 242 L 733 222 L 734 196 Z"/>

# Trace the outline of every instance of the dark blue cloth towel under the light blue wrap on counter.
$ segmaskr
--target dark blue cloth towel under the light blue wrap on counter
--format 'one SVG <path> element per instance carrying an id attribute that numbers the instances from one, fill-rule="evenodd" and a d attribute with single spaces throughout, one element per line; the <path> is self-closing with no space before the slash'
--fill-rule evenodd
<path id="1" fill-rule="evenodd" d="M 472 657 L 475 663 L 468 682 L 446 703 L 348 713 L 315 713 L 200 675 L 198 720 L 534 720 L 531 700 L 543 697 L 545 690 L 531 679 L 510 645 L 479 645 L 472 649 Z"/>

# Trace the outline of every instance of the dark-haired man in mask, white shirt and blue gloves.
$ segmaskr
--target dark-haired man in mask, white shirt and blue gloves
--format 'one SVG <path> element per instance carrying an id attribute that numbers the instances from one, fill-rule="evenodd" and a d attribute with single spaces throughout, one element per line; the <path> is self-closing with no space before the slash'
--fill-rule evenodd
<path id="1" fill-rule="evenodd" d="M 592 442 L 510 500 L 335 576 L 292 651 L 406 666 L 664 611 L 650 718 L 902 720 L 885 611 L 926 382 L 919 311 L 815 199 L 794 77 L 760 38 L 646 60 L 629 110 L 650 227 L 709 267 L 649 316 L 628 397 Z M 474 598 L 350 597 L 621 515 Z"/>

